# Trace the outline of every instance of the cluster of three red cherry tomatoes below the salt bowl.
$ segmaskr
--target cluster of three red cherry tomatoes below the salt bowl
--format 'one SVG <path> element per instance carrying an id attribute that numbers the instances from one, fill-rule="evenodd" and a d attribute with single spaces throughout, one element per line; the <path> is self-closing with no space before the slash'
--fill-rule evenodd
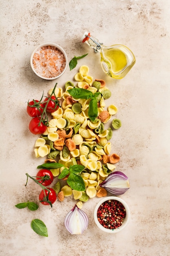
<path id="1" fill-rule="evenodd" d="M 55 96 L 46 97 L 43 102 L 38 100 L 28 102 L 26 111 L 30 117 L 33 117 L 29 123 L 30 132 L 35 135 L 45 132 L 48 124 L 43 116 L 47 116 L 46 112 L 55 112 L 59 106 L 59 101 Z"/>

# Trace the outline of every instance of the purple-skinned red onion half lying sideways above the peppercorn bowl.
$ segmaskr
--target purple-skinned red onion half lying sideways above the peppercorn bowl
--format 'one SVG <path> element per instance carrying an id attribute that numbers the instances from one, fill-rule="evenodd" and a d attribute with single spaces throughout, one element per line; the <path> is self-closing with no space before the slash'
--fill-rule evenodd
<path id="1" fill-rule="evenodd" d="M 130 189 L 128 177 L 121 171 L 110 173 L 106 180 L 99 184 L 99 186 L 105 188 L 113 195 L 123 195 L 128 189 Z"/>

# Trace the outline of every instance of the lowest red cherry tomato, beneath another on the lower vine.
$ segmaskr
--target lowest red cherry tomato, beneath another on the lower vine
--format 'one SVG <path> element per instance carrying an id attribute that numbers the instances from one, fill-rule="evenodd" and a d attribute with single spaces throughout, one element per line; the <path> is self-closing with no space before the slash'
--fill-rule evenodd
<path id="1" fill-rule="evenodd" d="M 57 200 L 57 195 L 55 193 L 55 190 L 51 189 L 51 188 L 47 188 L 47 189 L 50 189 L 50 192 L 47 191 L 46 189 L 44 189 L 45 190 L 45 195 L 44 195 L 43 190 L 41 191 L 41 193 L 39 195 L 39 200 L 44 205 L 48 205 L 50 203 L 53 204 Z M 46 198 L 45 198 L 45 196 L 46 196 Z"/>

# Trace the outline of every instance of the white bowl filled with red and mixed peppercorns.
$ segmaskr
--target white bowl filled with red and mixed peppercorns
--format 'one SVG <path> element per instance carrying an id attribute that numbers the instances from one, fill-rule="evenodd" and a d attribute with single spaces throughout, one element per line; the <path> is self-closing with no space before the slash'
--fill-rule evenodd
<path id="1" fill-rule="evenodd" d="M 94 219 L 99 229 L 115 234 L 128 225 L 130 209 L 121 198 L 108 196 L 97 203 L 94 210 Z"/>

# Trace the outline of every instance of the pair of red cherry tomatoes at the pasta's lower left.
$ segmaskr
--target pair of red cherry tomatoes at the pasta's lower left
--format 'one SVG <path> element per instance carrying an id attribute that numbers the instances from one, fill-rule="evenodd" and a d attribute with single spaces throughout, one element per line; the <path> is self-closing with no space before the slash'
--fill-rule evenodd
<path id="1" fill-rule="evenodd" d="M 47 169 L 41 169 L 36 175 L 36 180 L 43 186 L 49 186 L 53 182 L 53 173 Z M 55 190 L 47 187 L 50 192 L 46 189 L 42 189 L 39 200 L 44 205 L 53 204 L 57 200 Z M 44 193 L 45 192 L 45 193 Z"/>

